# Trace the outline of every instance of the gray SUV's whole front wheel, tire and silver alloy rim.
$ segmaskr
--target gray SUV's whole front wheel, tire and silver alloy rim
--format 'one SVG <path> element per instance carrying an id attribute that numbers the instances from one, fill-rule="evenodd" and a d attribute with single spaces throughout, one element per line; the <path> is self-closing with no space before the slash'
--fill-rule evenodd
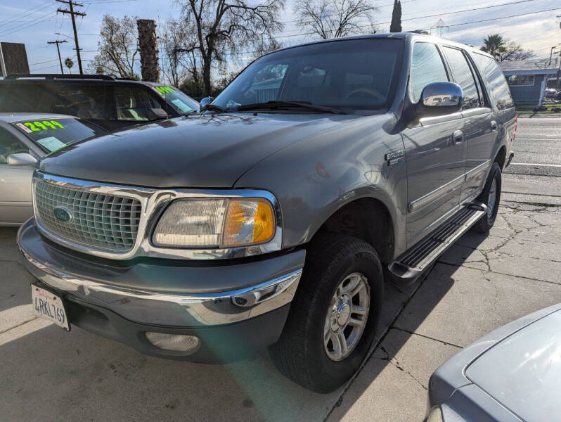
<path id="1" fill-rule="evenodd" d="M 328 235 L 308 248 L 297 295 L 271 357 L 293 381 L 330 392 L 359 369 L 382 306 L 382 265 L 357 238 Z"/>

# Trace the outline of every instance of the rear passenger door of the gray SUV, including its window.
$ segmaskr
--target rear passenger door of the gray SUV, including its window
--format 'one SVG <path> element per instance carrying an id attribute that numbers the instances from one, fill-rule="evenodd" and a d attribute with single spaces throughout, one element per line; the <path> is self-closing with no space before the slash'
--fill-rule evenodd
<path id="1" fill-rule="evenodd" d="M 448 60 L 453 82 L 462 87 L 464 95 L 465 184 L 460 195 L 460 202 L 464 202 L 479 195 L 485 182 L 491 165 L 497 124 L 467 53 L 451 46 L 444 46 L 442 51 Z"/>

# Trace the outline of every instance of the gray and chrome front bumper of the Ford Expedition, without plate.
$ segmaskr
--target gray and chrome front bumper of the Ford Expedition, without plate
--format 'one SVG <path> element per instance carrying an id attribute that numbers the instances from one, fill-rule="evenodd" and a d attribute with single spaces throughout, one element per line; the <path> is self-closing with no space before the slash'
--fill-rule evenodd
<path id="1" fill-rule="evenodd" d="M 61 295 L 70 324 L 145 354 L 215 361 L 276 342 L 306 252 L 236 262 L 112 262 L 47 241 L 30 219 L 18 231 L 25 268 Z M 197 335 L 197 350 L 153 346 L 146 332 Z"/>

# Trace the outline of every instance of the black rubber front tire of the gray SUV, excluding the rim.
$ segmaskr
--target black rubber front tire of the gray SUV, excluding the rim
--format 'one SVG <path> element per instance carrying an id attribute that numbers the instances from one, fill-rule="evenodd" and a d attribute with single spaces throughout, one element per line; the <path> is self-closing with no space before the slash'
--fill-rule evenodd
<path id="1" fill-rule="evenodd" d="M 307 260 L 290 314 L 278 343 L 270 347 L 280 372 L 316 392 L 330 392 L 349 380 L 373 342 L 382 307 L 383 276 L 378 254 L 358 238 L 330 234 L 307 248 Z M 366 276 L 370 307 L 358 343 L 344 359 L 328 357 L 323 343 L 325 319 L 335 290 L 354 272 Z"/>

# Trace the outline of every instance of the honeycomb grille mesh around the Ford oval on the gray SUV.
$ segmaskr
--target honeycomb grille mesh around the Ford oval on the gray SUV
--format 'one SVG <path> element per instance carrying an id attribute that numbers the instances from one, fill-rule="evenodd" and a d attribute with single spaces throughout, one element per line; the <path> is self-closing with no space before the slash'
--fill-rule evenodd
<path id="1" fill-rule="evenodd" d="M 36 180 L 34 201 L 39 222 L 52 234 L 68 241 L 111 252 L 127 252 L 136 243 L 142 206 L 135 198 Z M 61 222 L 55 217 L 57 207 L 70 212 L 70 221 Z"/>

